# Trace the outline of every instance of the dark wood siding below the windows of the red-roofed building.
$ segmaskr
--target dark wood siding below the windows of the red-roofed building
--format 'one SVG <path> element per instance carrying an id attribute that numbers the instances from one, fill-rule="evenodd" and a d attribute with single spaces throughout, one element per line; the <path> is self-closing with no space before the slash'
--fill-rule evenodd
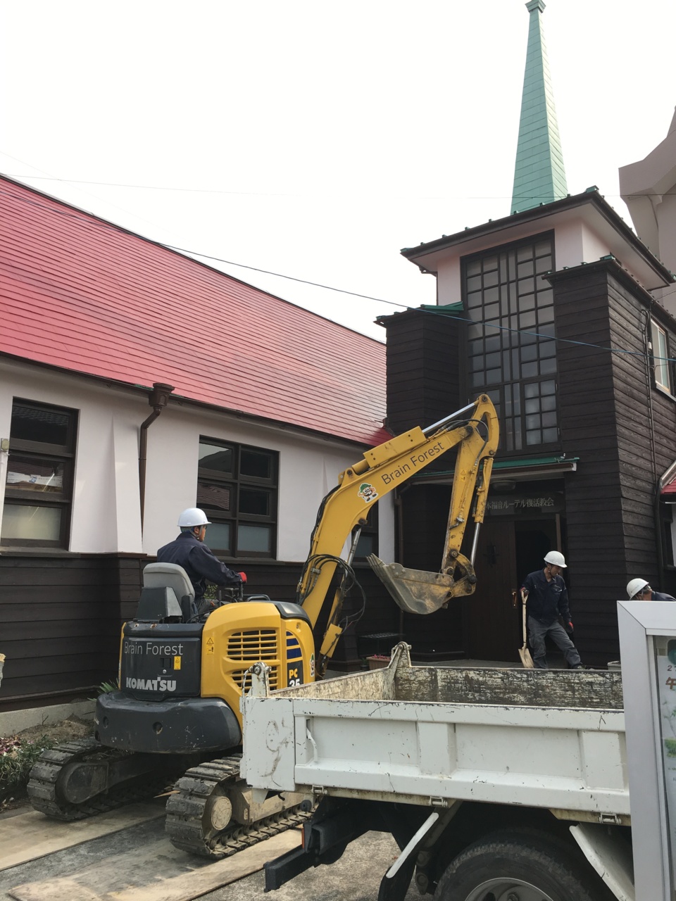
<path id="1" fill-rule="evenodd" d="M 0 556 L 0 652 L 5 669 L 0 711 L 93 696 L 117 676 L 120 629 L 136 614 L 142 569 L 151 557 L 117 555 Z M 295 601 L 300 564 L 246 565 L 249 593 Z M 372 652 L 372 633 L 399 633 L 399 610 L 368 564 L 356 564 L 367 603 L 338 642 L 337 668 L 358 669 Z M 362 610 L 354 588 L 343 614 Z M 389 651 L 397 639 L 386 641 Z M 333 666 L 333 662 L 329 666 Z"/>

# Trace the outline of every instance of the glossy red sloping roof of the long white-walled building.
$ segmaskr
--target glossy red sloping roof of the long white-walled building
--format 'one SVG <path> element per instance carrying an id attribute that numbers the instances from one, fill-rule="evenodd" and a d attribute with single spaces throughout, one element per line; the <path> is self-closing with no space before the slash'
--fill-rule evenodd
<path id="1" fill-rule="evenodd" d="M 389 436 L 385 346 L 0 177 L 0 352 L 350 441 Z"/>

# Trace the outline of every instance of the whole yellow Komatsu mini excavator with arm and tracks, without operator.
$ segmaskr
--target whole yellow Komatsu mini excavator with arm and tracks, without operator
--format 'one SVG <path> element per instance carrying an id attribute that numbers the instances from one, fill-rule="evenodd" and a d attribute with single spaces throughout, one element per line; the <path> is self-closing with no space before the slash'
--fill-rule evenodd
<path id="1" fill-rule="evenodd" d="M 167 832 L 178 848 L 224 857 L 304 818 L 302 796 L 255 803 L 239 776 L 242 714 L 249 669 L 270 667 L 270 687 L 323 678 L 349 617 L 343 600 L 356 581 L 352 558 L 370 507 L 457 447 L 452 498 L 438 573 L 368 560 L 397 604 L 427 614 L 474 591 L 474 555 L 498 448 L 498 419 L 481 395 L 426 429 L 366 451 L 324 497 L 296 603 L 240 595 L 195 616 L 184 569 L 152 563 L 143 572 L 136 618 L 124 623 L 119 688 L 96 702 L 96 738 L 44 751 L 32 769 L 32 806 L 78 820 L 142 796 L 178 778 L 167 802 Z M 468 518 L 470 556 L 461 553 Z M 227 589 L 224 589 L 227 591 Z M 313 628 L 322 616 L 315 650 Z M 320 630 L 321 631 L 321 630 Z"/>

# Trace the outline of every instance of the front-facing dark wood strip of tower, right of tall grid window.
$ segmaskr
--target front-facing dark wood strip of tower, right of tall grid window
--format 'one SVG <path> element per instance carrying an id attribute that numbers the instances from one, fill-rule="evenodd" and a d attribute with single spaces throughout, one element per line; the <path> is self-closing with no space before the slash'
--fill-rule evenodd
<path id="1" fill-rule="evenodd" d="M 611 347 L 607 272 L 585 270 L 555 277 L 553 283 L 557 336 Z M 613 602 L 626 584 L 614 360 L 607 350 L 564 342 L 558 345 L 557 359 L 562 448 L 580 458 L 577 471 L 565 480 L 571 613 L 582 660 L 602 665 L 608 654 L 617 657 Z M 608 638 L 601 640 L 599 634 Z"/>

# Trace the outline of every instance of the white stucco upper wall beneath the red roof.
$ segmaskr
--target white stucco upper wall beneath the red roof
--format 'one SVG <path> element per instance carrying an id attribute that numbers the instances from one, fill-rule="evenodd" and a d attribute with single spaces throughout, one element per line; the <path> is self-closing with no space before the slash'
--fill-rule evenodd
<path id="1" fill-rule="evenodd" d="M 148 430 L 142 541 L 138 455 L 139 427 L 151 414 L 147 396 L 0 361 L 0 438 L 9 437 L 14 397 L 78 410 L 69 550 L 81 553 L 154 554 L 175 538 L 178 513 L 196 503 L 198 443 L 206 435 L 279 451 L 276 556 L 305 560 L 322 497 L 337 484 L 338 474 L 361 458 L 361 450 L 345 441 L 172 401 Z M 393 560 L 393 505 L 389 497 L 379 503 L 380 556 Z"/>

